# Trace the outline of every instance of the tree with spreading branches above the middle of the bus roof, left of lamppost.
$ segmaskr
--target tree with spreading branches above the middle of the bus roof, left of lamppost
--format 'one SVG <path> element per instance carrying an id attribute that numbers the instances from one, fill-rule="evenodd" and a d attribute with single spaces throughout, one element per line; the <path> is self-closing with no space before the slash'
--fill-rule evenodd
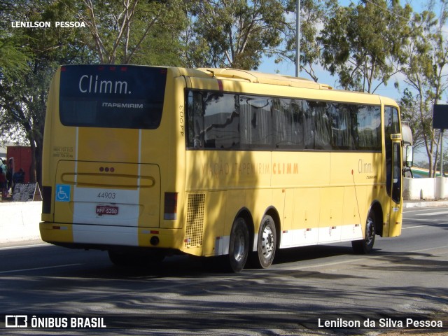
<path id="1" fill-rule="evenodd" d="M 257 69 L 290 30 L 285 11 L 280 0 L 193 2 L 185 35 L 188 66 Z"/>

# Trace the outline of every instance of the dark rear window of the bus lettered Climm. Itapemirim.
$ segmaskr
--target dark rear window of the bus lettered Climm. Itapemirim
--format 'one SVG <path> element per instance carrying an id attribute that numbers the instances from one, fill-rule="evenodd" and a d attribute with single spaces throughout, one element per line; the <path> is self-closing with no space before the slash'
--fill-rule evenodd
<path id="1" fill-rule="evenodd" d="M 166 68 L 62 66 L 62 125 L 154 130 L 162 119 Z"/>

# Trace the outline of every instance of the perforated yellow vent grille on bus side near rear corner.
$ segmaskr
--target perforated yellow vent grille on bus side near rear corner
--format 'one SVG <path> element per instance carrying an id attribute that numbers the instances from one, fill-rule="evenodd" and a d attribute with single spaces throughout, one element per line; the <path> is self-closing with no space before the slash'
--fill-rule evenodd
<path id="1" fill-rule="evenodd" d="M 202 246 L 204 232 L 205 194 L 188 195 L 186 247 Z"/>

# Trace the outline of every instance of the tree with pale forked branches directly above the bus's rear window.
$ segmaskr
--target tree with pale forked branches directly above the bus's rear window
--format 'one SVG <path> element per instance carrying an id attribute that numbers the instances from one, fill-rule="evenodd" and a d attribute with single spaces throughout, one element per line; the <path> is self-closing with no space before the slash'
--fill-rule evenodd
<path id="1" fill-rule="evenodd" d="M 87 25 L 81 38 L 101 63 L 165 64 L 181 61 L 186 25 L 181 0 L 83 0 L 77 13 Z"/>

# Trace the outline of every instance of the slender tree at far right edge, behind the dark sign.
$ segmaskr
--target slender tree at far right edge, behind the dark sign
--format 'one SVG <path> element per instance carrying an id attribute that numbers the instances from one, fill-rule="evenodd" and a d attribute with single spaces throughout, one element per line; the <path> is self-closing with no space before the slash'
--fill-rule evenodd
<path id="1" fill-rule="evenodd" d="M 409 22 L 409 36 L 403 43 L 399 57 L 400 71 L 405 75 L 409 90 L 405 99 L 412 99 L 419 132 L 428 156 L 430 176 L 434 176 L 440 132 L 432 128 L 433 105 L 442 99 L 448 87 L 448 42 L 444 39 L 447 22 L 447 1 L 440 1 L 440 15 L 436 15 L 431 2 L 422 13 L 415 13 Z M 403 100 L 403 99 L 402 99 Z M 406 107 L 406 105 L 405 105 Z M 409 111 L 409 110 L 405 110 Z M 415 113 L 416 112 L 416 113 Z"/>

